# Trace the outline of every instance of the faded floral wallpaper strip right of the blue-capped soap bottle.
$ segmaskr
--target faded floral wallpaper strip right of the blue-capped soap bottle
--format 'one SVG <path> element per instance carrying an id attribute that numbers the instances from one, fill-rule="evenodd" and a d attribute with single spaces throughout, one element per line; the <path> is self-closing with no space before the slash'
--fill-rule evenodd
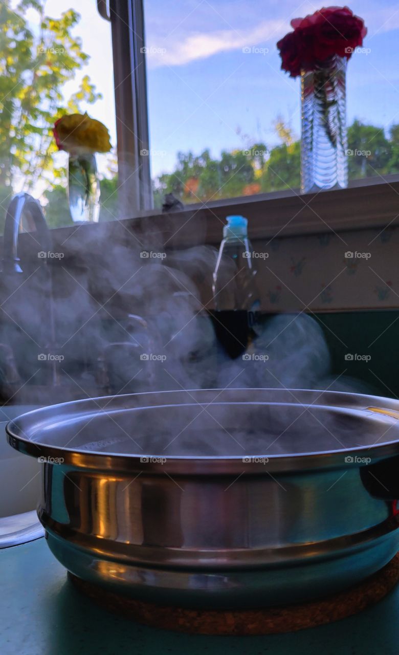
<path id="1" fill-rule="evenodd" d="M 399 227 L 256 240 L 264 311 L 399 308 Z"/>

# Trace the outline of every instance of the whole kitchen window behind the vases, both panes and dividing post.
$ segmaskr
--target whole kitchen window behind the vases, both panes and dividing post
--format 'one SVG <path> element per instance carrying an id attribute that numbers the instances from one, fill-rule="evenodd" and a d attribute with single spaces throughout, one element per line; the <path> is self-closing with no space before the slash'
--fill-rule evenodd
<path id="1" fill-rule="evenodd" d="M 395 7 L 351 3 L 368 26 L 347 73 L 351 181 L 399 172 Z M 210 206 L 292 193 L 299 80 L 281 71 L 276 41 L 315 9 L 291 0 L 3 0 L 2 215 L 24 190 L 40 198 L 51 227 L 71 225 L 67 155 L 51 131 L 62 110 L 87 111 L 111 133 L 113 151 L 98 156 L 100 220 L 157 213 L 168 193 Z"/>

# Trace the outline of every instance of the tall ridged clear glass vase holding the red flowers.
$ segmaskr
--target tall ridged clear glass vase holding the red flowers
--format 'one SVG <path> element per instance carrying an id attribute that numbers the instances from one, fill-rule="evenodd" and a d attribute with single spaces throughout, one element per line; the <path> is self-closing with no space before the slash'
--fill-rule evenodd
<path id="1" fill-rule="evenodd" d="M 348 185 L 345 57 L 301 73 L 301 192 Z"/>

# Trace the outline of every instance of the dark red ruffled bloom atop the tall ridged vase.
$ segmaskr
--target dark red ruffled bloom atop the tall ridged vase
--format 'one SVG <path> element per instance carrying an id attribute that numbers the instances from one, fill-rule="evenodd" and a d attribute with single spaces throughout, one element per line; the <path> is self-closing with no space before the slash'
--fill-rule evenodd
<path id="1" fill-rule="evenodd" d="M 294 31 L 278 41 L 277 47 L 281 67 L 292 77 L 301 69 L 314 70 L 317 62 L 333 55 L 351 58 L 367 33 L 362 18 L 348 7 L 324 7 L 305 18 L 295 18 L 291 25 Z"/>

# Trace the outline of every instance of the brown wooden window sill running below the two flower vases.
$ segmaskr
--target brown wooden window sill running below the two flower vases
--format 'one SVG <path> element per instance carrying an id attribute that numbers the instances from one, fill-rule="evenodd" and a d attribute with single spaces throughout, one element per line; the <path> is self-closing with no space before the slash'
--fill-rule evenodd
<path id="1" fill-rule="evenodd" d="M 225 217 L 237 213 L 248 218 L 252 240 L 387 227 L 399 217 L 399 174 L 356 180 L 336 191 L 276 191 L 193 204 L 170 214 L 142 212 L 135 218 L 53 229 L 52 237 L 54 247 L 65 252 L 82 250 L 86 238 L 125 241 L 128 233 L 145 240 L 153 236 L 165 248 L 216 245 Z"/>

